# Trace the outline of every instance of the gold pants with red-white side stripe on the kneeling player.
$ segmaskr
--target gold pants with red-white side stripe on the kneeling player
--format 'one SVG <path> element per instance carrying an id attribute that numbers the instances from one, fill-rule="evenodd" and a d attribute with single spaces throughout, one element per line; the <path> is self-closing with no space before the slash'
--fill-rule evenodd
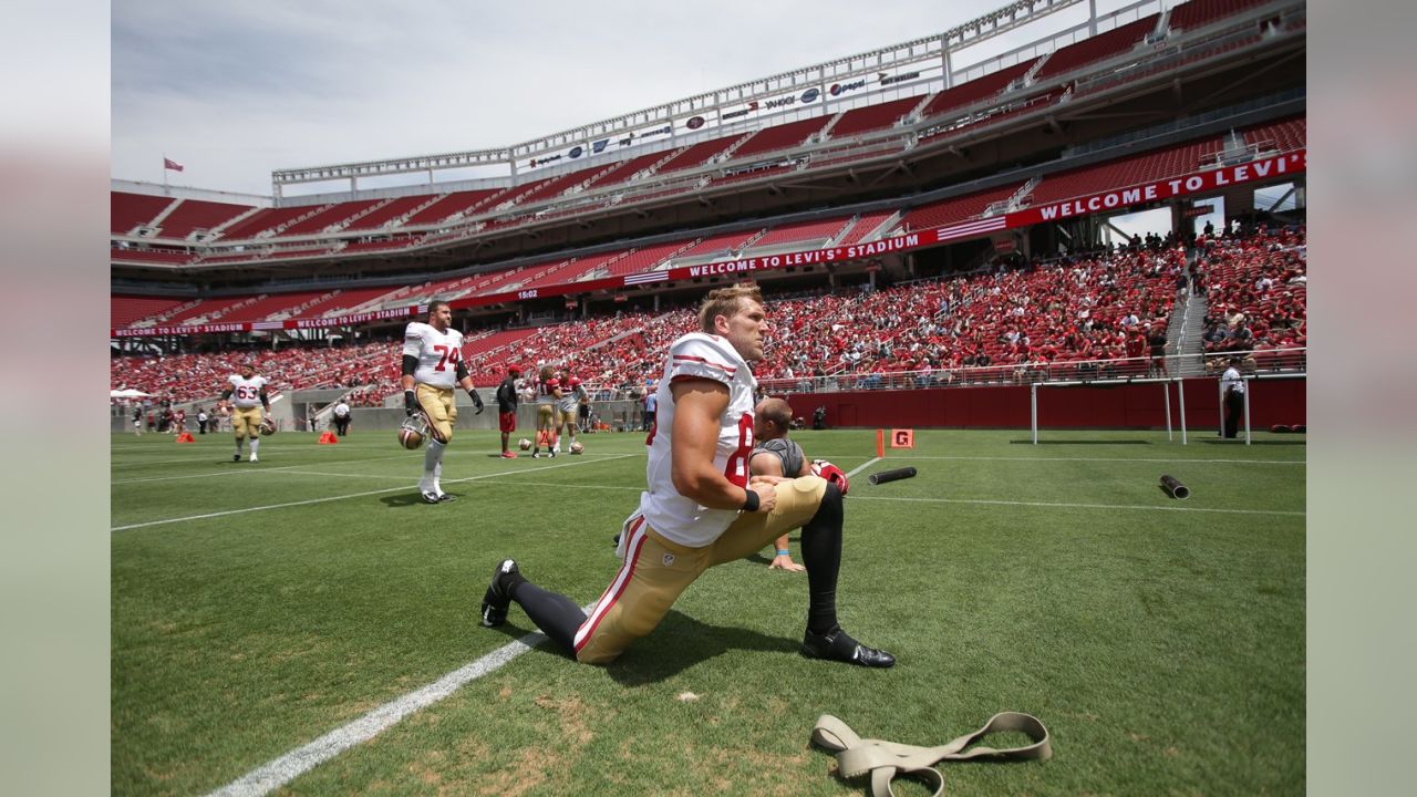
<path id="1" fill-rule="evenodd" d="M 575 632 L 575 658 L 585 664 L 615 661 L 635 640 L 659 625 L 679 594 L 700 573 L 761 550 L 816 515 L 826 479 L 799 476 L 777 485 L 772 512 L 743 513 L 713 543 L 687 547 L 670 542 L 635 515 L 622 533 L 625 562 Z"/>

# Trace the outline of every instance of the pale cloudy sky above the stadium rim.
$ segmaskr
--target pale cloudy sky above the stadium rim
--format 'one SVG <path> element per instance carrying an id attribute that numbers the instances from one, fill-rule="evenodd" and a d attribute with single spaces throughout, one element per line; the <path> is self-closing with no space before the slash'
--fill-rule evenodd
<path id="1" fill-rule="evenodd" d="M 126 0 L 111 176 L 162 182 L 166 155 L 174 184 L 269 194 L 273 169 L 506 146 L 1003 4 Z"/>

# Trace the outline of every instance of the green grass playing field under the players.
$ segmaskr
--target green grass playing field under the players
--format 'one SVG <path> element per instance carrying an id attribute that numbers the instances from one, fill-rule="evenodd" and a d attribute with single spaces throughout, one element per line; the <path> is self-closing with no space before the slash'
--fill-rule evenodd
<path id="1" fill-rule="evenodd" d="M 920 431 L 846 499 L 840 620 L 894 669 L 801 658 L 805 574 L 750 557 L 611 667 L 536 648 L 276 793 L 863 794 L 808 746 L 820 713 L 934 746 L 999 710 L 1041 719 L 1053 760 L 947 764 L 951 794 L 1302 793 L 1304 438 L 1213 434 Z M 846 471 L 874 455 L 871 431 L 795 438 Z M 113 793 L 210 793 L 524 637 L 516 607 L 478 624 L 504 556 L 595 600 L 643 435 L 584 440 L 506 461 L 461 434 L 459 501 L 427 506 L 391 431 L 282 433 L 255 465 L 228 435 L 115 435 Z"/>

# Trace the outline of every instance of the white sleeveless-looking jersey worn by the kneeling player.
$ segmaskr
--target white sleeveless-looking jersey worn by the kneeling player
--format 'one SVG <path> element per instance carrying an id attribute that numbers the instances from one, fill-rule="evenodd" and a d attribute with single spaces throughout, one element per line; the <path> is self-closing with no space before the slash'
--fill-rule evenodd
<path id="1" fill-rule="evenodd" d="M 670 467 L 670 437 L 674 428 L 674 397 L 669 387 L 676 379 L 708 379 L 728 387 L 728 407 L 718 418 L 718 445 L 713 467 L 730 482 L 748 486 L 748 454 L 752 452 L 752 391 L 758 380 L 728 340 L 717 335 L 690 332 L 669 346 L 665 374 L 656 397 L 659 413 L 649 435 L 648 488 L 639 495 L 639 512 L 649 526 L 679 545 L 703 547 L 713 543 L 738 518 L 737 509 L 710 509 L 674 489 Z"/>

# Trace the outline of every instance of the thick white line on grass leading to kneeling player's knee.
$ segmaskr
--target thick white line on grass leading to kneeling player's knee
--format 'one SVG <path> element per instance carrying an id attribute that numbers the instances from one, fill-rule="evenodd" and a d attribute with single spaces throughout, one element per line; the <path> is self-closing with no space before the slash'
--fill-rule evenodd
<path id="1" fill-rule="evenodd" d="M 354 722 L 343 728 L 336 728 L 315 742 L 303 747 L 296 747 L 279 759 L 248 771 L 213 791 L 208 797 L 258 797 L 269 794 L 354 745 L 361 745 L 378 736 L 415 710 L 431 706 L 452 695 L 465 684 L 499 669 L 509 661 L 530 651 L 541 640 L 546 640 L 544 634 L 533 632 L 507 642 L 490 654 L 453 669 L 422 689 L 390 701 Z"/>

